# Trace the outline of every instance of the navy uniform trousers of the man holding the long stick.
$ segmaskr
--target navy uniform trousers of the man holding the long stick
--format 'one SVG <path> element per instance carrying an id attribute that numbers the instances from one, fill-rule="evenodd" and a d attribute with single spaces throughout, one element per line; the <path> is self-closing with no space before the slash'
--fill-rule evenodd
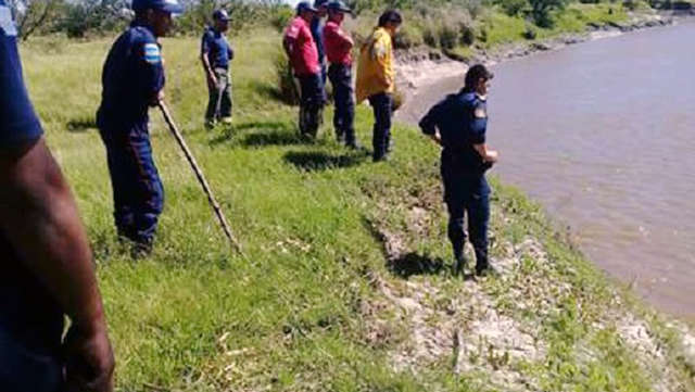
<path id="1" fill-rule="evenodd" d="M 164 187 L 152 159 L 147 121 L 125 129 L 101 128 L 113 187 L 118 236 L 151 244 L 164 206 Z"/>

